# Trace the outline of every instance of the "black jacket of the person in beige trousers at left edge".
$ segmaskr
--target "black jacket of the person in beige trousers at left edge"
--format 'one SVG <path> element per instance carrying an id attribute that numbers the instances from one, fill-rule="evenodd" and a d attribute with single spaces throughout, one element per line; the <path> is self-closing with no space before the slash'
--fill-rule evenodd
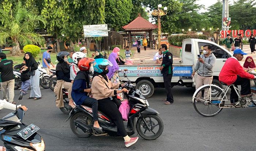
<path id="1" fill-rule="evenodd" d="M 12 60 L 3 59 L 0 62 L 0 72 L 1 72 L 1 80 L 2 82 L 10 81 L 14 79 Z"/>

